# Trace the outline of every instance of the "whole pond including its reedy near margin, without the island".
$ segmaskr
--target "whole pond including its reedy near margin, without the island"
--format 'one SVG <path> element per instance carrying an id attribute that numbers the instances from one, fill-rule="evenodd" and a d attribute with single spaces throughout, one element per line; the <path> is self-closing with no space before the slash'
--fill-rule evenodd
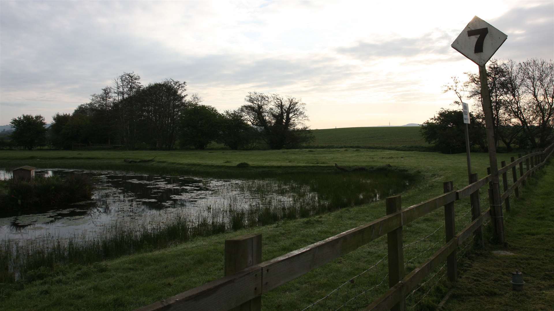
<path id="1" fill-rule="evenodd" d="M 93 178 L 90 200 L 45 212 L 0 214 L 0 282 L 56 262 L 94 262 L 194 236 L 368 203 L 403 191 L 412 180 L 405 172 L 389 169 L 291 172 L 260 179 L 35 170 L 36 176 L 45 178 L 70 174 Z M 11 177 L 11 172 L 0 169 L 0 180 Z M 39 259 L 28 258 L 32 256 Z"/>

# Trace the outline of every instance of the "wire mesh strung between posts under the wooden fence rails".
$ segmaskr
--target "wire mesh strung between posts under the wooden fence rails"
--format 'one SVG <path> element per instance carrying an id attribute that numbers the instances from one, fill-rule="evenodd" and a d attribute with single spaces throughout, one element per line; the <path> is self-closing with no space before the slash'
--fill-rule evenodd
<path id="1" fill-rule="evenodd" d="M 456 232 L 473 221 L 470 204 L 456 210 Z M 437 224 L 438 225 L 438 224 Z M 444 222 L 432 231 L 421 233 L 421 229 L 404 231 L 404 271 L 406 274 L 427 261 L 446 241 Z M 417 232 L 417 233 L 416 233 Z M 468 239 L 458 247 L 456 257 L 463 260 L 471 249 L 474 239 Z M 447 263 L 438 267 L 423 282 L 406 296 L 408 310 L 427 310 L 437 305 L 448 289 Z M 299 310 L 358 310 L 367 307 L 389 288 L 388 255 L 383 256 L 356 276 L 345 279 L 325 296 Z"/>

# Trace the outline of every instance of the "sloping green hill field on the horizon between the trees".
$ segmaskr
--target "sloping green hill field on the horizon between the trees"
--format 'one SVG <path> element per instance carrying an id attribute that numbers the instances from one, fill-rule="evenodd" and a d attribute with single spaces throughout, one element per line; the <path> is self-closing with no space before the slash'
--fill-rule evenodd
<path id="1" fill-rule="evenodd" d="M 314 141 L 306 147 L 429 151 L 432 147 L 424 141 L 419 129 L 419 126 L 312 129 Z"/>

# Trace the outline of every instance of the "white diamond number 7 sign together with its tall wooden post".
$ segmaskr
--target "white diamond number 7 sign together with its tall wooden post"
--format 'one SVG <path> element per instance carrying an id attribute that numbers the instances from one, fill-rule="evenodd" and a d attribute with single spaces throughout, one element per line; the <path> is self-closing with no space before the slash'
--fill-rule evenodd
<path id="1" fill-rule="evenodd" d="M 495 225 L 497 241 L 504 243 L 504 219 L 500 202 L 500 187 L 498 178 L 498 164 L 496 161 L 496 142 L 494 139 L 493 107 L 491 106 L 489 84 L 486 76 L 486 63 L 494 53 L 506 41 L 507 35 L 494 28 L 479 17 L 474 17 L 471 22 L 458 35 L 452 43 L 452 48 L 459 51 L 466 58 L 479 65 L 479 77 L 481 80 L 481 102 L 485 114 L 486 137 L 489 144 L 489 161 L 492 177 L 491 215 Z"/>

